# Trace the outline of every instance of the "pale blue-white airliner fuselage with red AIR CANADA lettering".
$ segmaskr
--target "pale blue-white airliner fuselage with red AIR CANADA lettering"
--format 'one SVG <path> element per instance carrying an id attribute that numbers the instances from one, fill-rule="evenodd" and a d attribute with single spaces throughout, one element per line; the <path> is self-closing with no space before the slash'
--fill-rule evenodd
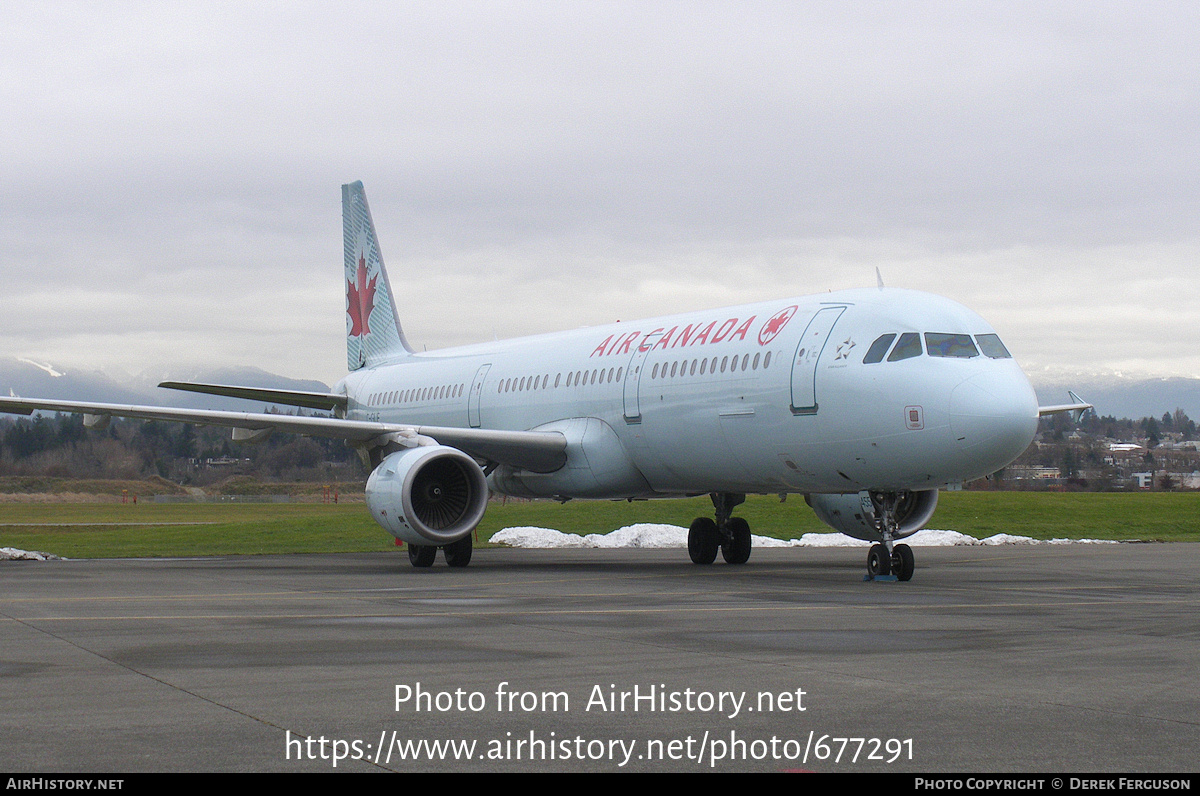
<path id="1" fill-rule="evenodd" d="M 844 291 L 418 353 L 335 391 L 350 419 L 564 431 L 583 477 L 493 475 L 514 493 L 929 490 L 1013 461 L 1038 420 L 1015 360 L 864 364 L 905 333 L 995 334 L 928 293 Z"/>

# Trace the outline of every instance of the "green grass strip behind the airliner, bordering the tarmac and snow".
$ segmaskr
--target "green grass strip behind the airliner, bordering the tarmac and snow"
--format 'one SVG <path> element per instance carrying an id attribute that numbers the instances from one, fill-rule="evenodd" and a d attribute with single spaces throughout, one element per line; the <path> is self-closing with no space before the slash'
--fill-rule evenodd
<path id="1" fill-rule="evenodd" d="M 606 533 L 636 522 L 686 527 L 710 515 L 707 497 L 686 501 L 493 502 L 479 527 L 541 526 Z M 738 515 L 756 534 L 793 538 L 830 532 L 799 496 L 786 503 L 751 496 Z M 1051 538 L 1200 541 L 1200 492 L 943 492 L 931 528 L 977 538 L 1012 533 Z M 0 547 L 68 558 L 361 552 L 394 549 L 362 503 L 284 504 L 0 504 Z"/>

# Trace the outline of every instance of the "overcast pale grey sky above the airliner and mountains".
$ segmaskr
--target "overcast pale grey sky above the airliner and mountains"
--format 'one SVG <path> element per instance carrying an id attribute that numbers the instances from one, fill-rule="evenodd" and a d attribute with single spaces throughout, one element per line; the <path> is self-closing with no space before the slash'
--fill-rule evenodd
<path id="1" fill-rule="evenodd" d="M 1200 376 L 1193 2 L 29 2 L 0 354 L 346 369 L 342 182 L 430 349 L 875 283 Z"/>

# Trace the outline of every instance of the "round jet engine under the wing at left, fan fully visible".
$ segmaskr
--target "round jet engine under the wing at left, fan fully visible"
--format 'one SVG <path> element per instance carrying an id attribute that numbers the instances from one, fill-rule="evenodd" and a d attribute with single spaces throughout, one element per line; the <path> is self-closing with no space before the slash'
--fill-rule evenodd
<path id="1" fill-rule="evenodd" d="M 445 545 L 484 519 L 487 480 L 475 460 L 456 448 L 407 448 L 388 455 L 371 473 L 367 508 L 402 541 Z"/>

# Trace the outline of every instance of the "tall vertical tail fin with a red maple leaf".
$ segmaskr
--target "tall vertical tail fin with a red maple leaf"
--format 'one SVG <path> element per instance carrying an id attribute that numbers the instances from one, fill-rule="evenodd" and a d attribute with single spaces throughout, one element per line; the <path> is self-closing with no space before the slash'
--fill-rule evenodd
<path id="1" fill-rule="evenodd" d="M 342 186 L 342 247 L 346 256 L 346 367 L 355 371 L 412 354 L 400 325 L 362 182 Z"/>

